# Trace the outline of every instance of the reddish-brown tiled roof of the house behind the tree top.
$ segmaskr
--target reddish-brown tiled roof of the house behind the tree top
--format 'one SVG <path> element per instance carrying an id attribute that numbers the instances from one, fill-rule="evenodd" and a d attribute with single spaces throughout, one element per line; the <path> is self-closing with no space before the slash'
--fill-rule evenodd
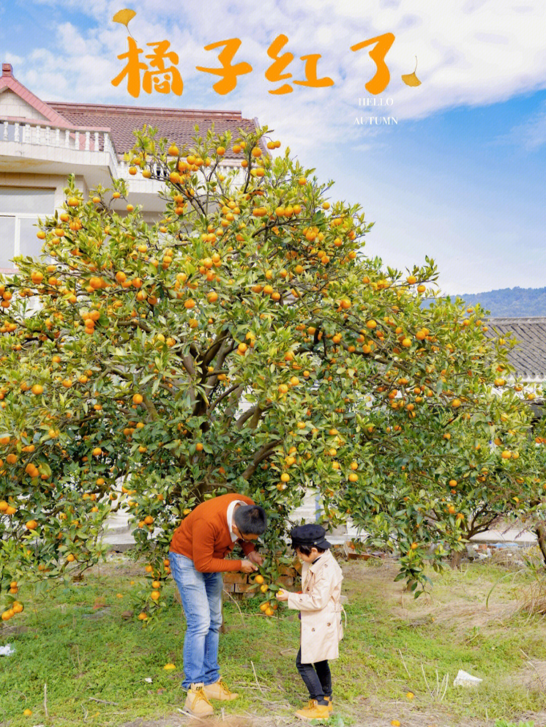
<path id="1" fill-rule="evenodd" d="M 256 119 L 243 119 L 241 111 L 199 111 L 189 108 L 152 108 L 57 101 L 50 101 L 47 105 L 74 126 L 109 127 L 113 144 L 120 156 L 133 148 L 135 145 L 133 130 L 142 129 L 144 124 L 157 126 L 156 138 L 167 137 L 179 148 L 191 143 L 196 124 L 199 126 L 200 135 L 204 135 L 214 124 L 216 132 L 230 131 L 233 137 L 238 136 L 239 127 L 246 131 L 254 131 L 257 126 Z M 230 148 L 227 148 L 224 158 L 237 157 Z"/>

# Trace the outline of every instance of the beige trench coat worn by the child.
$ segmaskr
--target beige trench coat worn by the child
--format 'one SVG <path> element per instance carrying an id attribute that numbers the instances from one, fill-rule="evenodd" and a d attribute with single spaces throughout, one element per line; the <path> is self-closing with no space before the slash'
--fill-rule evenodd
<path id="1" fill-rule="evenodd" d="M 310 565 L 302 566 L 302 593 L 289 593 L 289 608 L 302 614 L 302 664 L 337 659 L 343 638 L 341 582 L 337 561 L 326 550 Z"/>

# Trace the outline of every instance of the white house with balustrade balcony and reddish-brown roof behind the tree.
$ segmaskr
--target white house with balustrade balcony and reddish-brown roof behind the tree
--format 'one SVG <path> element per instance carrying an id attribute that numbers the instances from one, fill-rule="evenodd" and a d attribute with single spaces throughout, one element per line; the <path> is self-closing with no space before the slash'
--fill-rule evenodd
<path id="1" fill-rule="evenodd" d="M 68 174 L 87 195 L 97 184 L 108 186 L 111 176 L 129 180 L 132 204 L 142 206 L 146 221 L 164 209 L 158 197 L 162 182 L 129 175 L 123 161 L 135 143 L 134 129 L 144 124 L 158 128 L 182 148 L 198 124 L 204 134 L 214 124 L 236 137 L 238 128 L 257 127 L 257 119 L 243 119 L 240 111 L 201 111 L 185 108 L 60 103 L 42 101 L 2 63 L 0 76 L 0 273 L 14 273 L 15 255 L 36 256 L 36 218 L 63 205 Z M 222 166 L 240 164 L 228 149 Z M 120 204 L 120 211 L 121 211 Z"/>

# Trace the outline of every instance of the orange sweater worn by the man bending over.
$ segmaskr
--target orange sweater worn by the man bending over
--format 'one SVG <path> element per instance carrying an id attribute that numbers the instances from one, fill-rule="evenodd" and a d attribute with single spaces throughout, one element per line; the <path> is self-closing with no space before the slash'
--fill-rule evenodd
<path id="1" fill-rule="evenodd" d="M 241 561 L 225 560 L 235 545 L 228 529 L 228 505 L 233 500 L 254 505 L 252 499 L 239 494 L 220 495 L 201 502 L 174 531 L 170 550 L 190 558 L 200 573 L 240 571 Z M 254 550 L 253 542 L 236 542 L 245 555 Z"/>

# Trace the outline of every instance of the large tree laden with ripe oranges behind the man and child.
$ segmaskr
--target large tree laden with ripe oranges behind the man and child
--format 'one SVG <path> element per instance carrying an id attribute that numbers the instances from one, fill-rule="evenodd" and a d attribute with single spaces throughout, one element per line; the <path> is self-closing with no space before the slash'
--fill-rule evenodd
<path id="1" fill-rule="evenodd" d="M 41 259 L 0 280 L 3 619 L 20 582 L 97 562 L 120 507 L 148 558 L 145 620 L 174 527 L 223 491 L 265 505 L 276 553 L 313 486 L 326 523 L 352 518 L 421 583 L 474 521 L 539 501 L 529 412 L 500 378 L 510 342 L 460 301 L 422 305 L 433 261 L 366 257 L 361 208 L 266 133 L 179 150 L 143 129 L 129 172 L 164 180 L 161 220 L 121 180 L 83 198 L 71 177 Z"/>

